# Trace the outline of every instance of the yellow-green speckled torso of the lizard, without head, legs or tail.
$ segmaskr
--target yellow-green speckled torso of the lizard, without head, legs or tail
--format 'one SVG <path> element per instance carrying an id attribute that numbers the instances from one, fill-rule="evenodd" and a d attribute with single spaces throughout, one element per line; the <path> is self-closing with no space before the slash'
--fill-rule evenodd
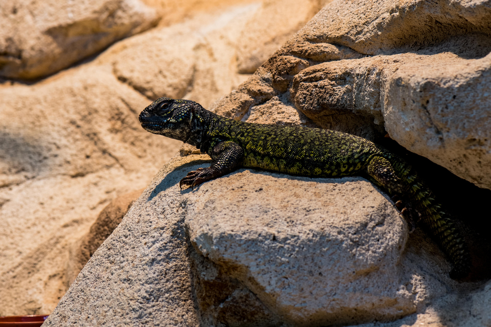
<path id="1" fill-rule="evenodd" d="M 261 125 L 220 119 L 208 136 L 244 149 L 242 166 L 310 177 L 359 173 L 376 154 L 374 144 L 355 135 L 327 129 Z M 360 142 L 362 141 L 362 142 Z"/>

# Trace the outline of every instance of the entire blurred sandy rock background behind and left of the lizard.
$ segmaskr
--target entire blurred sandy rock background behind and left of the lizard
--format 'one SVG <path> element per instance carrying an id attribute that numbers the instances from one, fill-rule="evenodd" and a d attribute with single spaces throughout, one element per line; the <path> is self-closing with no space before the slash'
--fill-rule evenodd
<path id="1" fill-rule="evenodd" d="M 51 312 L 107 236 L 90 229 L 101 210 L 147 186 L 179 150 L 140 127 L 152 99 L 209 105 L 250 76 L 238 63 L 249 60 L 243 38 L 266 59 L 326 3 L 3 2 L 4 78 L 53 74 L 103 51 L 42 80 L 0 80 L 0 315 Z M 257 19 L 277 31 L 249 37 Z"/>

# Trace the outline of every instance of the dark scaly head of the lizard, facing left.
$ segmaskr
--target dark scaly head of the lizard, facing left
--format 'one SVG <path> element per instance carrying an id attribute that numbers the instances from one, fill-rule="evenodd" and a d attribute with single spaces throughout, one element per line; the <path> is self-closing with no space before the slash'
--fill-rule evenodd
<path id="1" fill-rule="evenodd" d="M 186 142 L 191 134 L 194 106 L 191 100 L 160 98 L 143 109 L 138 120 L 150 133 Z"/>

